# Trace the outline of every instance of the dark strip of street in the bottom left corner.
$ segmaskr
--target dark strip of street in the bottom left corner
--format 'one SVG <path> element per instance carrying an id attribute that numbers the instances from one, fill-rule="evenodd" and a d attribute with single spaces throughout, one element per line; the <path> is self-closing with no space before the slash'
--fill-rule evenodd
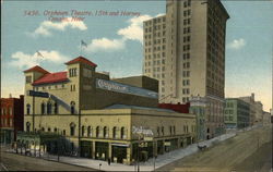
<path id="1" fill-rule="evenodd" d="M 94 171 L 66 163 L 47 161 L 38 158 L 1 152 L 0 171 Z"/>

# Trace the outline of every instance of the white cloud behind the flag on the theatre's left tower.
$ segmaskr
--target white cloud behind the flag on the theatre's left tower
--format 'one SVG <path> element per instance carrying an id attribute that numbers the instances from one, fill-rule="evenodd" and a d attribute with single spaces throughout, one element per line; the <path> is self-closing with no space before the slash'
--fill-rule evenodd
<path id="1" fill-rule="evenodd" d="M 27 54 L 22 51 L 12 53 L 11 56 L 12 61 L 10 62 L 10 64 L 12 66 L 24 69 L 24 67 L 32 67 L 34 65 L 38 65 L 43 61 L 62 63 L 69 60 L 68 57 L 59 53 L 58 51 L 39 50 L 39 52 L 43 54 L 43 57 L 39 57 L 37 52 L 35 52 L 34 54 Z"/>

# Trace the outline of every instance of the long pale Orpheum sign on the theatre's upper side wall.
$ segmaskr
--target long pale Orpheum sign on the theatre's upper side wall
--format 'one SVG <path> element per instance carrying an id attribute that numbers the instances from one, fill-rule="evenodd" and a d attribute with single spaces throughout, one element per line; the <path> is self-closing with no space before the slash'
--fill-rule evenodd
<path id="1" fill-rule="evenodd" d="M 139 88 L 139 87 L 133 87 L 111 81 L 106 81 L 106 79 L 96 79 L 96 88 L 100 89 L 106 89 L 110 91 L 117 91 L 121 94 L 130 94 L 130 95 L 136 95 L 136 96 L 143 96 L 143 97 L 149 97 L 149 98 L 158 98 L 158 94 L 152 90 Z"/>

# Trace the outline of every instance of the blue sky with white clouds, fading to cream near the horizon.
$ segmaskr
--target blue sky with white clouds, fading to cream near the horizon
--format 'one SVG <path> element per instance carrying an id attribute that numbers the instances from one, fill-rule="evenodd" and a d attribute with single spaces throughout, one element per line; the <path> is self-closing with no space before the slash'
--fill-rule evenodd
<path id="1" fill-rule="evenodd" d="M 273 2 L 223 4 L 230 15 L 226 29 L 225 96 L 254 93 L 256 100 L 269 111 Z M 1 1 L 1 96 L 24 94 L 24 70 L 38 64 L 50 72 L 64 71 L 63 63 L 80 54 L 95 62 L 97 71 L 110 72 L 111 77 L 141 75 L 142 22 L 164 14 L 165 5 L 162 0 Z M 54 12 L 59 15 L 50 15 Z M 81 48 L 81 40 L 87 47 Z"/>

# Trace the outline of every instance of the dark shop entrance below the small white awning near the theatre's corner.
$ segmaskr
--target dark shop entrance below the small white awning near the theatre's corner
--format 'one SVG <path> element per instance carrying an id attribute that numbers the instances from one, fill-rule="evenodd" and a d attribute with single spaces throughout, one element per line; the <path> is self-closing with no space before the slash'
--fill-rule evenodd
<path id="1" fill-rule="evenodd" d="M 124 146 L 111 146 L 111 161 L 123 163 L 123 159 L 127 159 L 127 147 Z"/>

